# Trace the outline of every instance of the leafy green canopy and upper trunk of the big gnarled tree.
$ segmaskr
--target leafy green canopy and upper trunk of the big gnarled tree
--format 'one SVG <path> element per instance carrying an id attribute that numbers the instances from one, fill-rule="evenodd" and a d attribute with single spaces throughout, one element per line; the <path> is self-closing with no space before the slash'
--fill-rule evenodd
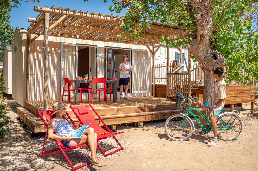
<path id="1" fill-rule="evenodd" d="M 214 53 L 215 56 L 221 55 L 220 66 L 226 65 L 225 74 L 228 81 L 246 80 L 242 84 L 248 84 L 252 76 L 258 79 L 256 1 L 112 0 L 112 2 L 114 5 L 109 7 L 111 12 L 119 13 L 123 8 L 127 8 L 127 12 L 121 18 L 124 34 L 119 37 L 125 34 L 130 34 L 131 39 L 135 36 L 140 37 L 142 29 L 149 27 L 150 22 L 179 26 L 187 34 L 169 39 L 164 37 L 160 41 L 170 48 L 186 44 L 190 47 L 191 54 L 194 54 L 192 58 L 196 58 L 193 61 L 204 61 L 205 58 L 199 55 L 201 48 L 196 51 L 198 53 L 195 53 L 195 49 L 204 46 L 207 39 L 207 48 L 203 51 L 208 53 L 213 50 L 211 53 L 213 56 Z M 128 33 L 135 21 L 140 21 L 141 25 L 133 30 L 133 33 Z M 215 66 L 219 65 L 219 62 L 214 63 Z M 244 68 L 248 76 L 243 75 Z"/>

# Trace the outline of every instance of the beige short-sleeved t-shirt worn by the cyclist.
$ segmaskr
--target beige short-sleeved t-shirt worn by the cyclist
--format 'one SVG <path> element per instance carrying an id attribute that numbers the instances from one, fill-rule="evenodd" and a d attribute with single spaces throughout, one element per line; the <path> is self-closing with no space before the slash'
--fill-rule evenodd
<path id="1" fill-rule="evenodd" d="M 212 94 L 210 100 L 207 102 L 209 106 L 212 108 L 216 103 L 220 101 L 220 99 L 226 98 L 226 83 L 222 79 L 219 81 L 216 81 L 216 78 L 213 77 L 213 72 L 211 71 L 211 78 L 213 82 L 213 88 L 212 88 Z M 215 110 L 222 110 L 224 107 L 225 103 L 224 101 L 216 107 Z"/>

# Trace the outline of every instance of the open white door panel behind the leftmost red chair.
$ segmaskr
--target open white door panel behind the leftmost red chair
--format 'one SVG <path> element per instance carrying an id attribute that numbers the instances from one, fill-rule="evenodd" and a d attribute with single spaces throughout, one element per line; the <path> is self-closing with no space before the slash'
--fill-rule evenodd
<path id="1" fill-rule="evenodd" d="M 61 58 L 60 58 L 60 95 L 62 95 L 64 82 L 62 78 L 74 79 L 78 75 L 77 69 L 77 51 L 78 47 L 76 44 L 61 42 Z M 74 88 L 72 84 L 71 88 Z"/>

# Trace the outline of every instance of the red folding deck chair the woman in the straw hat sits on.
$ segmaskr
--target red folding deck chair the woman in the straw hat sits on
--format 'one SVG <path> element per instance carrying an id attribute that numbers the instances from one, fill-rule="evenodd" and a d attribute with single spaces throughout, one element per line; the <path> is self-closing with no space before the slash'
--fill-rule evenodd
<path id="1" fill-rule="evenodd" d="M 47 128 L 47 131 L 48 131 L 48 128 L 49 126 L 47 125 L 46 121 L 44 120 L 43 118 L 43 115 L 45 116 L 48 124 L 50 124 L 50 120 L 53 118 L 51 118 L 51 113 L 53 112 L 54 110 L 47 110 L 47 111 L 39 111 L 37 110 L 37 113 L 39 115 L 39 117 L 41 118 L 41 120 L 44 122 L 46 128 Z M 66 118 L 69 118 L 69 120 L 71 121 L 74 129 L 76 129 L 76 125 L 74 123 L 74 121 L 72 121 L 71 117 L 68 115 L 68 113 L 66 112 L 66 114 L 64 114 L 65 116 L 68 116 Z M 64 116 L 63 115 L 63 116 Z M 56 143 L 57 143 L 57 146 L 58 148 L 55 148 L 55 149 L 52 149 L 52 150 L 48 150 L 48 151 L 44 151 L 44 146 L 45 146 L 45 141 L 46 141 L 46 138 L 47 138 L 47 131 L 46 131 L 46 135 L 45 135 L 45 139 L 44 139 L 44 143 L 43 143 L 43 148 L 42 148 L 42 153 L 40 155 L 37 155 L 37 157 L 41 157 L 41 156 L 46 156 L 46 155 L 50 155 L 50 154 L 55 154 L 55 153 L 58 153 L 58 152 L 62 152 L 63 156 L 65 157 L 65 159 L 67 160 L 67 162 L 69 163 L 69 165 L 71 166 L 72 170 L 73 171 L 76 171 L 76 169 L 80 168 L 80 167 L 83 167 L 87 164 L 90 164 L 91 161 L 88 161 L 87 163 L 84 163 L 82 165 L 79 165 L 77 167 L 74 167 L 71 163 L 71 161 L 69 160 L 69 158 L 67 157 L 67 155 L 65 154 L 65 151 L 68 151 L 68 150 L 72 150 L 72 149 L 76 149 L 78 147 L 82 147 L 82 146 L 85 146 L 87 145 L 88 148 L 90 148 L 90 146 L 88 145 L 88 143 L 86 144 L 82 144 L 82 145 L 79 145 L 79 146 L 76 146 L 76 147 L 70 147 L 70 148 L 67 148 L 65 146 L 63 146 L 63 144 L 61 143 L 60 140 L 54 140 Z"/>

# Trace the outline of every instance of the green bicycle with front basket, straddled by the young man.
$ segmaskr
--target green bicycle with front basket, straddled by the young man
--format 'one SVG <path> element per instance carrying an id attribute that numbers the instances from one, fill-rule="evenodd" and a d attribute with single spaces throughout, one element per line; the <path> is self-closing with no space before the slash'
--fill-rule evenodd
<path id="1" fill-rule="evenodd" d="M 186 103 L 187 99 L 190 101 L 189 106 Z M 195 118 L 198 125 L 202 128 L 202 132 L 204 134 L 208 134 L 213 130 L 211 122 L 207 120 L 204 114 L 199 110 L 191 107 L 193 99 L 198 100 L 199 98 L 195 96 L 186 98 L 183 97 L 183 95 L 180 93 L 176 94 L 176 106 L 178 108 L 184 109 L 184 113 L 174 114 L 166 120 L 165 132 L 170 139 L 175 141 L 185 141 L 191 137 L 192 133 L 195 131 L 195 126 L 193 121 L 188 116 L 189 113 Z M 193 114 L 190 110 L 199 112 L 201 116 Z M 229 109 L 221 111 L 221 113 L 218 115 L 216 123 L 218 137 L 221 140 L 233 140 L 241 133 L 242 119 L 239 116 L 239 113 L 239 110 Z M 208 124 L 202 127 L 197 117 L 203 118 Z"/>

